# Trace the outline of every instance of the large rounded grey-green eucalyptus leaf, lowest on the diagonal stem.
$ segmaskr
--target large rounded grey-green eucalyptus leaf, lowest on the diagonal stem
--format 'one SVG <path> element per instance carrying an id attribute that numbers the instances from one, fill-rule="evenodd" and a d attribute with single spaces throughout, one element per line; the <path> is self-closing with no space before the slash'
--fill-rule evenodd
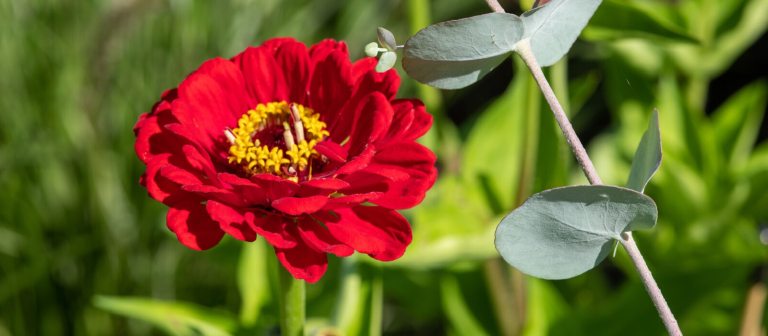
<path id="1" fill-rule="evenodd" d="M 510 265 L 544 279 L 567 279 L 597 266 L 622 232 L 656 224 L 653 200 L 604 186 L 550 189 L 531 196 L 496 229 L 496 249 Z"/>

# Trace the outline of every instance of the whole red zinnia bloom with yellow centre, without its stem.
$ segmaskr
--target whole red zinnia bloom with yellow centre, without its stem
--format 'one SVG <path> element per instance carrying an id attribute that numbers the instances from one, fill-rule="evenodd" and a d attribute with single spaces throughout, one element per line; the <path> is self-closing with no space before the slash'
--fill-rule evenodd
<path id="1" fill-rule="evenodd" d="M 415 142 L 424 105 L 395 99 L 394 70 L 350 63 L 346 45 L 273 39 L 209 60 L 139 118 L 141 183 L 196 250 L 224 233 L 271 244 L 294 277 L 319 280 L 326 253 L 399 258 L 435 156 Z"/>

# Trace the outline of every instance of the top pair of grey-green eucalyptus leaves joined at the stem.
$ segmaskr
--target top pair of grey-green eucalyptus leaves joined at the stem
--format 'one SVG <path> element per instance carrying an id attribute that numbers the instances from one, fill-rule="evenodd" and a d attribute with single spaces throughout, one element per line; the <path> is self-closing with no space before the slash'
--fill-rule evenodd
<path id="1" fill-rule="evenodd" d="M 468 86 L 529 40 L 542 66 L 570 50 L 600 0 L 554 0 L 517 16 L 489 13 L 422 29 L 403 51 L 403 68 L 414 79 L 441 89 Z"/>

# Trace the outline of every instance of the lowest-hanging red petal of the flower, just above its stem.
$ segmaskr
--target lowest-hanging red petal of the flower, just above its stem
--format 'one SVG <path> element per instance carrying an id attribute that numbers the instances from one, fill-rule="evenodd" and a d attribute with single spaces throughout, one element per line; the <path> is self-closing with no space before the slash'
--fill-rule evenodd
<path id="1" fill-rule="evenodd" d="M 324 252 L 318 252 L 307 245 L 299 244 L 294 248 L 283 249 L 275 247 L 277 260 L 296 279 L 315 283 L 328 269 L 328 258 Z"/>

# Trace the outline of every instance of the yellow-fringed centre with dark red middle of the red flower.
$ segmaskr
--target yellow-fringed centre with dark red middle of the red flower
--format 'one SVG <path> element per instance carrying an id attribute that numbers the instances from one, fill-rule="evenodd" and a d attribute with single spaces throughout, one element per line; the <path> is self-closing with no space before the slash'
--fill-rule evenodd
<path id="1" fill-rule="evenodd" d="M 224 130 L 231 144 L 229 163 L 249 175 L 310 179 L 312 160 L 320 157 L 315 145 L 329 134 L 325 127 L 319 114 L 300 104 L 259 104 L 240 117 L 237 128 Z"/>

